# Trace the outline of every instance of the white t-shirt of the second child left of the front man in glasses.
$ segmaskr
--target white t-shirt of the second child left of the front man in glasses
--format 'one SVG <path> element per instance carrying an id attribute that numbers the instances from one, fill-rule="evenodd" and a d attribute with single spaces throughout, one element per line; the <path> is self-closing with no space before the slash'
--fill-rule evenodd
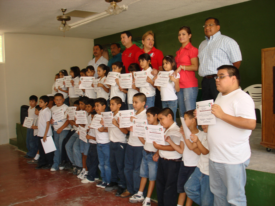
<path id="1" fill-rule="evenodd" d="M 195 135 L 198 137 L 198 140 L 201 141 L 203 139 L 203 137 L 206 136 L 206 133 L 198 130 L 198 133 L 196 133 Z M 188 147 L 186 146 L 186 144 L 183 140 L 183 137 L 180 138 L 180 141 L 182 141 L 184 143 L 184 150 L 182 153 L 182 161 L 184 163 L 184 166 L 195 167 L 197 165 L 199 155 L 195 154 L 192 150 L 188 149 Z M 186 140 L 186 141 L 192 142 L 191 140 Z"/>

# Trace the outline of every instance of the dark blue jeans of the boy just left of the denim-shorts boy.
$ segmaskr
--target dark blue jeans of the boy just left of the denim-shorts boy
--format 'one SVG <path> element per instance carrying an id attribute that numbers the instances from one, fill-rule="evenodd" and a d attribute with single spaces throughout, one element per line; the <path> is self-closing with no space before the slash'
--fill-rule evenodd
<path id="1" fill-rule="evenodd" d="M 140 164 L 142 160 L 143 147 L 133 147 L 127 145 L 124 159 L 124 174 L 126 178 L 127 190 L 130 194 L 136 194 L 140 185 Z"/>

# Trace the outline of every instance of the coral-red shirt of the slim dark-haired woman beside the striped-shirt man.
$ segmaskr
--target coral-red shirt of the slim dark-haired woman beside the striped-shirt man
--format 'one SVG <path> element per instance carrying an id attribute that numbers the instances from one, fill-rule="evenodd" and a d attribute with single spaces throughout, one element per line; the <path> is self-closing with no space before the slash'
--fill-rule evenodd
<path id="1" fill-rule="evenodd" d="M 176 67 L 178 68 L 181 65 L 183 68 L 183 65 L 191 65 L 191 59 L 197 57 L 198 49 L 193 47 L 189 42 L 184 48 L 180 47 L 175 53 Z M 184 71 L 181 69 L 179 75 L 180 88 L 197 87 L 197 78 L 195 78 L 194 71 Z"/>

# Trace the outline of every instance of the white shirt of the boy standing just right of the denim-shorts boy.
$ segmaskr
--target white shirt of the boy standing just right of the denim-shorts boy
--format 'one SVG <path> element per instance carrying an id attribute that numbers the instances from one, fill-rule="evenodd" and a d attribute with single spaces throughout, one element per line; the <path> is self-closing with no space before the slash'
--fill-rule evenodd
<path id="1" fill-rule="evenodd" d="M 165 132 L 164 132 L 164 135 L 166 135 L 166 133 L 171 130 L 171 129 L 177 129 L 179 130 L 179 127 L 176 125 L 176 123 L 174 122 L 170 127 L 169 129 L 167 129 Z M 180 137 L 176 137 L 176 136 L 173 136 L 173 135 L 170 135 L 170 138 L 171 140 L 174 142 L 174 144 L 176 145 L 179 145 L 180 144 Z M 165 142 L 165 145 L 169 145 L 169 143 Z M 159 150 L 158 151 L 159 153 L 159 157 L 161 158 L 166 158 L 166 159 L 169 159 L 169 160 L 176 160 L 176 159 L 179 159 L 182 157 L 181 154 L 179 154 L 178 152 L 176 151 L 165 151 L 165 150 Z"/>

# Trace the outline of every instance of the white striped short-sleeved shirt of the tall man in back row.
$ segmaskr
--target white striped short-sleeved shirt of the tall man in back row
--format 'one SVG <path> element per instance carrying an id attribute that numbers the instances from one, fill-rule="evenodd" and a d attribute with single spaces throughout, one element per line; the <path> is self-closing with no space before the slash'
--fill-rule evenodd
<path id="1" fill-rule="evenodd" d="M 207 76 L 217 73 L 221 65 L 233 65 L 241 61 L 241 53 L 237 42 L 220 31 L 202 41 L 198 47 L 198 75 Z"/>

